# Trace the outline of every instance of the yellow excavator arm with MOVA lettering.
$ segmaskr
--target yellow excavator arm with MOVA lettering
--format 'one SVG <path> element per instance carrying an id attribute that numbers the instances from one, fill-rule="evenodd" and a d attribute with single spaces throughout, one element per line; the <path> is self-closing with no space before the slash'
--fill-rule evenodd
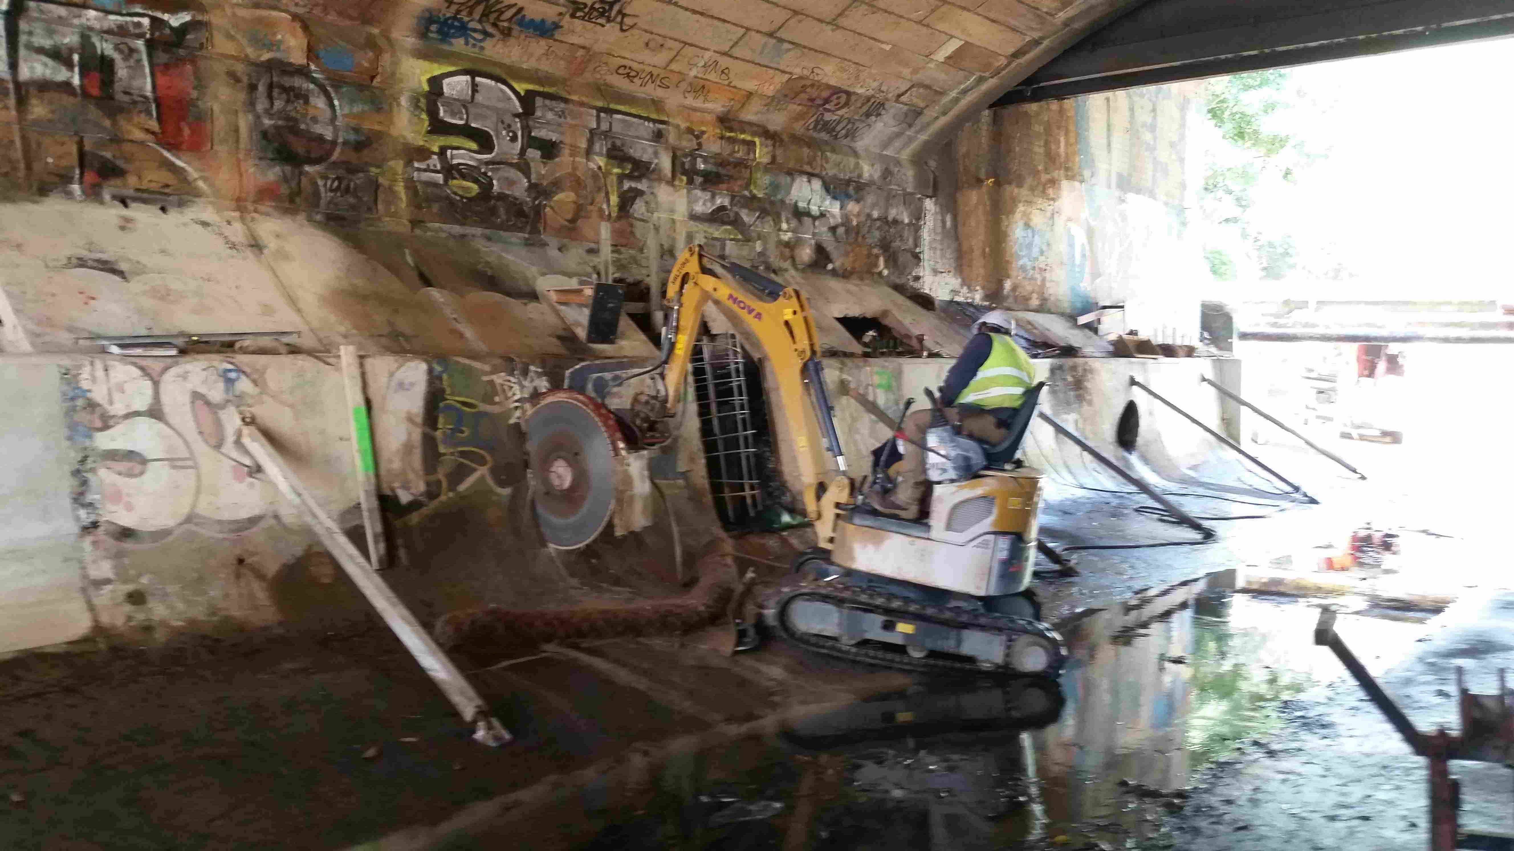
<path id="1" fill-rule="evenodd" d="M 668 410 L 677 409 L 683 394 L 704 306 L 715 304 L 751 332 L 768 359 L 778 385 L 769 407 L 775 429 L 792 441 L 796 472 L 804 483 L 804 513 L 812 521 L 821 521 L 822 538 L 830 538 L 834 506 L 851 497 L 851 480 L 846 478 L 846 456 L 831 419 L 821 347 L 804 294 L 745 267 L 709 257 L 699 245 L 689 245 L 668 276 L 663 304 L 668 309 L 665 333 L 671 335 L 665 339 L 665 350 L 671 345 L 665 373 Z M 827 482 L 831 460 L 840 475 Z"/>

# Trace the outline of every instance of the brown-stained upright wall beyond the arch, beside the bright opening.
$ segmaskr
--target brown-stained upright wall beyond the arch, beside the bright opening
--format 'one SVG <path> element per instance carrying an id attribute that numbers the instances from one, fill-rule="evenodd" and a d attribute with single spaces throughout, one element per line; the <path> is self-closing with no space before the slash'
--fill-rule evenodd
<path id="1" fill-rule="evenodd" d="M 1125 304 L 1128 327 L 1196 339 L 1198 94 L 1178 83 L 981 114 L 937 159 L 955 173 L 928 217 L 927 285 L 1016 310 Z"/>

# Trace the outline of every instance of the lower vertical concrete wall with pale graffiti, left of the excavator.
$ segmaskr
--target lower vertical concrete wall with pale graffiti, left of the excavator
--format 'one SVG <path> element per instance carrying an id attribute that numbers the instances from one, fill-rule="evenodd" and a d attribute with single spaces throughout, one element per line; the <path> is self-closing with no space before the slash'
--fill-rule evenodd
<path id="1" fill-rule="evenodd" d="M 527 501 L 519 401 L 562 373 L 494 359 L 363 359 L 395 584 L 422 619 L 480 603 L 565 606 L 613 551 L 671 580 L 668 518 L 553 554 Z M 362 547 L 341 371 L 306 356 L 0 357 L 0 653 L 98 636 L 338 628 L 368 607 L 239 441 L 253 416 Z M 695 418 L 686 418 L 696 429 Z M 713 528 L 696 432 L 665 482 L 687 557 Z M 666 574 L 666 575 L 663 575 Z M 633 580 L 621 580 L 634 583 Z"/>

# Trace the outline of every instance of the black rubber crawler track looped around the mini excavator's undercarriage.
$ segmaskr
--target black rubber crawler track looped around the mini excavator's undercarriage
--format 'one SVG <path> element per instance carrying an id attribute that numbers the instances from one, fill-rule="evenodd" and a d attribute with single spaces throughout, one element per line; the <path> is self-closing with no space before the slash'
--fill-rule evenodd
<path id="1" fill-rule="evenodd" d="M 1025 675 L 1023 672 L 1013 671 L 1007 666 L 986 666 L 978 662 L 970 662 L 966 659 L 949 659 L 942 654 L 931 654 L 925 657 L 914 657 L 907 653 L 893 653 L 889 650 L 875 650 L 872 647 L 846 645 L 840 641 L 834 641 L 825 636 L 816 636 L 810 633 L 801 633 L 789 627 L 787 610 L 793 603 L 799 600 L 821 600 L 837 607 L 860 607 L 869 609 L 877 613 L 889 616 L 902 616 L 913 621 L 927 621 L 931 624 L 952 627 L 952 628 L 974 628 L 986 631 L 999 631 L 1008 634 L 1033 634 L 1040 636 L 1057 648 L 1055 660 L 1042 672 L 1036 675 L 1054 677 L 1057 671 L 1061 669 L 1063 663 L 1067 660 L 1066 645 L 1057 630 L 1039 621 L 1031 621 L 1028 618 L 1014 618 L 1010 615 L 993 615 L 989 612 L 974 612 L 970 609 L 957 609 L 949 606 L 930 606 L 925 603 L 917 603 L 904 597 L 896 597 L 893 594 L 884 594 L 880 591 L 858 588 L 843 583 L 819 583 L 819 581 L 801 581 L 798 584 L 783 584 L 780 586 L 763 604 L 763 612 L 769 613 L 768 624 L 783 636 L 784 641 L 796 644 L 805 650 L 813 650 L 816 653 L 824 653 L 827 656 L 836 656 L 839 659 L 852 659 L 857 662 L 868 662 L 871 665 L 883 665 L 887 668 L 896 668 L 902 671 L 919 671 L 919 672 L 936 672 L 936 674 L 1014 674 Z"/>

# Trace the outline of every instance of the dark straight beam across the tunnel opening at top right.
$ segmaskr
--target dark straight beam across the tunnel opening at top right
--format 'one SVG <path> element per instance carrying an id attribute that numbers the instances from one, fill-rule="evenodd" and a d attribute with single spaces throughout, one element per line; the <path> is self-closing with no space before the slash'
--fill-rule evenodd
<path id="1" fill-rule="evenodd" d="M 992 106 L 1514 35 L 1508 0 L 1154 0 Z"/>

